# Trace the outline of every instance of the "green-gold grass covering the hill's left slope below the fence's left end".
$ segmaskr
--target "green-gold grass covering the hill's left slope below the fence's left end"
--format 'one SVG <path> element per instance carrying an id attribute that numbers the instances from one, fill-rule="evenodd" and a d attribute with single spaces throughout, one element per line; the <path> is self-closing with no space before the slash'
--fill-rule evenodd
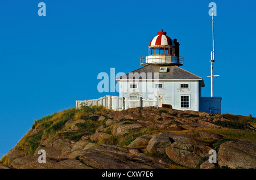
<path id="1" fill-rule="evenodd" d="M 47 138 L 51 138 L 57 134 L 60 134 L 63 138 L 68 138 L 71 140 L 80 140 L 83 135 L 91 135 L 95 132 L 101 122 L 93 121 L 89 118 L 89 115 L 95 112 L 106 112 L 103 106 L 84 106 L 81 109 L 67 109 L 59 113 L 53 113 L 52 115 L 47 115 L 41 119 L 34 122 L 32 130 L 36 130 L 35 134 L 30 135 L 27 133 L 23 136 L 20 142 L 16 145 L 15 149 L 23 149 L 24 155 L 34 155 L 36 148 L 40 145 L 40 140 L 42 135 L 45 134 Z M 85 123 L 77 123 L 76 126 L 80 130 L 72 132 L 63 132 L 67 130 L 65 123 L 69 120 L 77 120 L 81 117 L 85 118 Z"/>

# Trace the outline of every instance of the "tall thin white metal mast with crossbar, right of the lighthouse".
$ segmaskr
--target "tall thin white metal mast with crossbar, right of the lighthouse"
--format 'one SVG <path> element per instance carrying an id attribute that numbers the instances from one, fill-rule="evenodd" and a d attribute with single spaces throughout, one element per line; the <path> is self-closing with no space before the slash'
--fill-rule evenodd
<path id="1" fill-rule="evenodd" d="M 213 62 L 214 62 L 214 14 L 212 8 L 212 52 L 211 52 L 211 59 L 210 59 L 210 97 L 213 97 L 213 77 L 220 76 L 220 75 L 213 75 Z"/>

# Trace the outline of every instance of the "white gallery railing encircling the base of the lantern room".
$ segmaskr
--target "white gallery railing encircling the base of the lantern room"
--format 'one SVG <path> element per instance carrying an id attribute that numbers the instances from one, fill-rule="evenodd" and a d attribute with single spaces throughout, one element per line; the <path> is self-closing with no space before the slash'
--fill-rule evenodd
<path id="1" fill-rule="evenodd" d="M 183 65 L 183 57 L 174 55 L 144 55 L 140 57 L 141 65 L 144 63 L 174 63 Z"/>

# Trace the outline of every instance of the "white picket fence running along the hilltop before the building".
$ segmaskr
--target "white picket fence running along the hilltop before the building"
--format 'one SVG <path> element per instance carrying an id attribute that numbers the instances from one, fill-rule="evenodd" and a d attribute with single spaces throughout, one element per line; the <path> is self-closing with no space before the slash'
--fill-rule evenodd
<path id="1" fill-rule="evenodd" d="M 119 96 L 105 96 L 94 100 L 76 100 L 76 108 L 81 106 L 105 106 L 108 109 L 120 111 L 123 109 L 146 107 L 146 106 L 158 106 L 162 107 L 161 98 L 137 98 L 137 99 L 125 99 Z"/>

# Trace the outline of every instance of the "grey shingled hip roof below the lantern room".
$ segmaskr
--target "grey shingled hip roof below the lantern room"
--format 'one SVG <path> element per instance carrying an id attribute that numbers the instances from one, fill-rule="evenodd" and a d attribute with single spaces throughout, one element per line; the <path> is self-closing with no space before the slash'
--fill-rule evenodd
<path id="1" fill-rule="evenodd" d="M 167 72 L 159 72 L 160 67 L 167 67 Z M 159 72 L 159 79 L 201 79 L 201 80 L 203 80 L 203 78 L 201 78 L 195 74 L 192 74 L 191 72 L 183 70 L 183 68 L 180 68 L 178 66 L 146 65 L 146 66 L 143 66 L 143 67 L 138 68 L 137 70 L 134 70 L 131 72 L 133 72 L 133 73 L 138 72 L 138 74 L 141 74 L 141 72 L 145 72 L 146 79 L 154 79 L 154 72 Z M 147 74 L 148 72 L 152 72 L 152 78 L 151 78 L 151 75 Z M 129 73 L 118 77 L 117 80 L 145 79 L 145 78 L 141 78 L 141 77 L 134 78 L 134 76 L 129 76 Z M 125 76 L 127 78 L 125 78 Z"/>

